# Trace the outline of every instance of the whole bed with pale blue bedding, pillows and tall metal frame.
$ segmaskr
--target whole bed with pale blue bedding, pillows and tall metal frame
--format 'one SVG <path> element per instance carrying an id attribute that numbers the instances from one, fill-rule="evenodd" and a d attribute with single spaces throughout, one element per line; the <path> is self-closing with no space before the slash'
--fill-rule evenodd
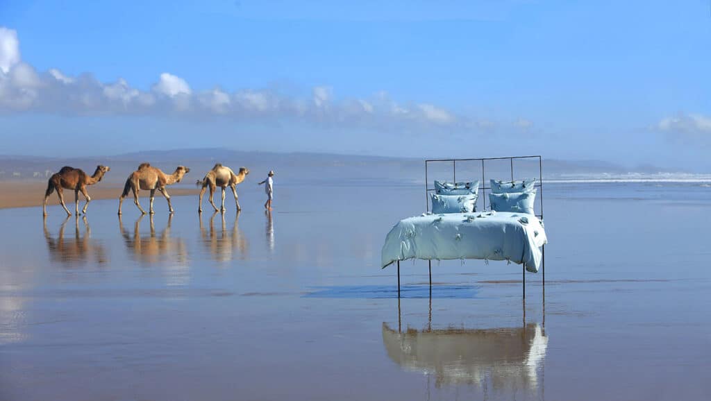
<path id="1" fill-rule="evenodd" d="M 487 162 L 501 164 L 502 161 L 506 163 L 506 168 L 509 170 L 507 176 L 510 177 L 510 181 L 506 177 L 506 181 L 490 179 L 487 183 Z M 516 181 L 515 162 L 526 164 L 529 169 L 535 166 L 538 178 Z M 452 181 L 451 183 L 434 181 L 435 186 L 430 187 L 430 164 L 442 163 L 451 164 Z M 460 166 L 464 163 L 476 165 L 481 163 L 481 181 L 477 179 L 467 183 L 457 182 L 458 163 Z M 487 263 L 495 260 L 506 261 L 507 264 L 521 264 L 524 298 L 526 271 L 536 273 L 541 270 L 542 283 L 545 286 L 547 236 L 543 224 L 541 156 L 432 159 L 426 160 L 424 166 L 427 211 L 419 216 L 402 219 L 395 224 L 387 233 L 381 252 L 383 269 L 390 264 L 397 265 L 398 296 L 400 296 L 400 261 L 414 259 L 427 260 L 430 289 L 432 288 L 432 260 L 483 260 Z M 451 186 L 447 187 L 450 184 Z M 454 192 L 440 192 L 441 189 Z M 489 192 L 488 204 L 487 191 Z M 456 210 L 456 207 L 452 210 L 450 201 L 455 200 L 458 203 L 454 205 L 461 205 L 461 210 Z M 505 207 L 502 207 L 502 204 Z M 474 210 L 471 210 L 472 208 Z M 543 291 L 545 292 L 545 287 Z"/>

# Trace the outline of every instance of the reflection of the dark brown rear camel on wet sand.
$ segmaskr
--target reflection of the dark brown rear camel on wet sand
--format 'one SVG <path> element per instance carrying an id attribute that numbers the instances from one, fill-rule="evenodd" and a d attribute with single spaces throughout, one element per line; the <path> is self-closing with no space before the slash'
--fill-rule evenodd
<path id="1" fill-rule="evenodd" d="M 59 235 L 55 239 L 47 228 L 47 218 L 43 219 L 43 229 L 50 260 L 68 266 L 77 264 L 104 264 L 107 262 L 106 252 L 102 245 L 91 239 L 91 228 L 86 216 L 82 216 L 84 235 L 79 227 L 79 216 L 67 216 L 59 228 Z M 74 220 L 74 237 L 65 238 L 64 230 L 69 220 Z"/>

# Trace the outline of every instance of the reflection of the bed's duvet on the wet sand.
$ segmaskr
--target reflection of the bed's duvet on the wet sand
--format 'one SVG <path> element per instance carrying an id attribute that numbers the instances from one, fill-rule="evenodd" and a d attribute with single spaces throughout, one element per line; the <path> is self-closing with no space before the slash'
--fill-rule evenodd
<path id="1" fill-rule="evenodd" d="M 383 323 L 383 344 L 390 359 L 405 370 L 426 373 L 428 380 L 434 376 L 438 388 L 474 385 L 483 390 L 535 390 L 547 343 L 545 330 L 537 323 L 433 329 L 431 312 L 423 330 L 395 330 Z"/>

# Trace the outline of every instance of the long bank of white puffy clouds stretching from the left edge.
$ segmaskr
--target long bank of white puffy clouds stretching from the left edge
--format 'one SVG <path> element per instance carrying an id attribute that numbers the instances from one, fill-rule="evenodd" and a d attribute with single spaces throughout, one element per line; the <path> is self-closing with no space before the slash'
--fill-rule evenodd
<path id="1" fill-rule="evenodd" d="M 100 82 L 52 68 L 38 72 L 24 63 L 16 31 L 0 27 L 0 114 L 43 112 L 65 115 L 154 115 L 213 117 L 245 121 L 298 119 L 326 125 L 382 129 L 491 129 L 493 124 L 466 118 L 429 103 L 400 104 L 387 92 L 368 99 L 336 100 L 333 88 L 314 87 L 311 96 L 293 97 L 274 90 L 225 92 L 220 87 L 193 90 L 181 77 L 161 73 L 149 90 L 129 82 Z M 510 127 L 516 127 L 511 123 Z"/>

